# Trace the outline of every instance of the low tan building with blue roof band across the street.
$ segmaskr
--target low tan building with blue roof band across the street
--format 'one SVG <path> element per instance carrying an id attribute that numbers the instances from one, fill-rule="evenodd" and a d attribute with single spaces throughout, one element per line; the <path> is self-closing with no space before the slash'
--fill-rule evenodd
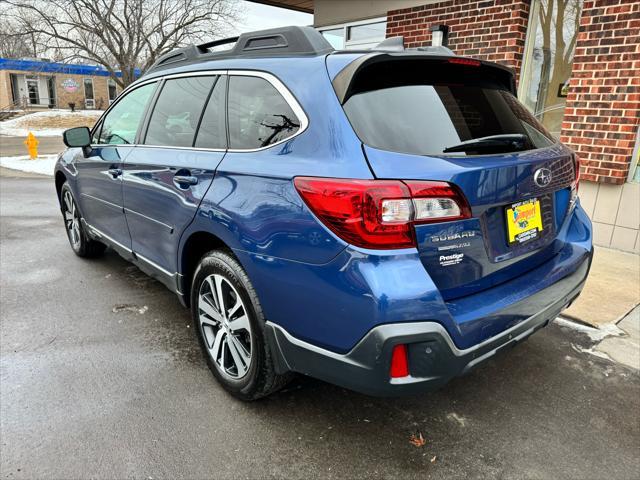
<path id="1" fill-rule="evenodd" d="M 102 67 L 0 58 L 0 109 L 104 109 L 120 90 Z"/>

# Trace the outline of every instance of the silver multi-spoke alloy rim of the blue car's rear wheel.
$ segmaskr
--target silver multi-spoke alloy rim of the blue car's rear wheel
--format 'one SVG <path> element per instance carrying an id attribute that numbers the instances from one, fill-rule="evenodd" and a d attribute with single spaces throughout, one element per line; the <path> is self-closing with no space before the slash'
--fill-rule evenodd
<path id="1" fill-rule="evenodd" d="M 251 366 L 251 324 L 240 295 L 222 275 L 204 279 L 198 294 L 202 338 L 218 371 L 239 380 Z"/>

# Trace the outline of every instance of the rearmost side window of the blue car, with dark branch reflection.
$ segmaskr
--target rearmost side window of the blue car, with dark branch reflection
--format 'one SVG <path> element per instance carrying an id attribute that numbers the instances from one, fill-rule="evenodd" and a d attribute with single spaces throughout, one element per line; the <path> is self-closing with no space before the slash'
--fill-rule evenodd
<path id="1" fill-rule="evenodd" d="M 300 129 L 280 92 L 260 77 L 229 78 L 229 148 L 266 147 Z"/>

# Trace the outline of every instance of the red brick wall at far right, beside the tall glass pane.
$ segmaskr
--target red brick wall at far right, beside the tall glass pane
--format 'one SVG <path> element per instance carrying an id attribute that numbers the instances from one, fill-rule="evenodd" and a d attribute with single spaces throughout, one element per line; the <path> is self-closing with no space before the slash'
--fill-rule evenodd
<path id="1" fill-rule="evenodd" d="M 622 184 L 640 119 L 640 2 L 585 0 L 561 141 L 583 180 Z"/>

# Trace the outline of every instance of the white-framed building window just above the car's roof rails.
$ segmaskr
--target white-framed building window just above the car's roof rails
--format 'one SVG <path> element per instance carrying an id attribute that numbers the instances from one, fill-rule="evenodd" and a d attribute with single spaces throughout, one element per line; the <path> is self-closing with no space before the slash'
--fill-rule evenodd
<path id="1" fill-rule="evenodd" d="M 373 48 L 385 39 L 387 20 L 374 18 L 318 30 L 336 50 L 363 50 Z"/>

